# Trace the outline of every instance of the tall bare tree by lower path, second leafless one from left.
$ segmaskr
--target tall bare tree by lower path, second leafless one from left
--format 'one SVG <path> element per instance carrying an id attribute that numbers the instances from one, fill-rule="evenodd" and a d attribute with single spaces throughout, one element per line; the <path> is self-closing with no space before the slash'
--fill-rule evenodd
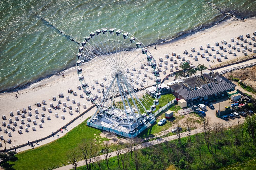
<path id="1" fill-rule="evenodd" d="M 84 161 L 86 162 L 86 168 L 91 170 L 95 162 L 97 147 L 93 139 L 82 139 L 82 143 L 79 145 L 79 149 L 82 152 Z"/>

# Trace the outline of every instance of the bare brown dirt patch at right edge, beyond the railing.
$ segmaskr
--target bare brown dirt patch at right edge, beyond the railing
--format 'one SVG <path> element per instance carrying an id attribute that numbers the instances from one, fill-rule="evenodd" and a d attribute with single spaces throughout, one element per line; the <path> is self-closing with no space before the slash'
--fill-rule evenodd
<path id="1" fill-rule="evenodd" d="M 223 74 L 223 76 L 229 80 L 231 79 L 230 76 L 233 76 L 234 78 L 241 79 L 247 86 L 256 87 L 256 66 L 234 70 Z"/>

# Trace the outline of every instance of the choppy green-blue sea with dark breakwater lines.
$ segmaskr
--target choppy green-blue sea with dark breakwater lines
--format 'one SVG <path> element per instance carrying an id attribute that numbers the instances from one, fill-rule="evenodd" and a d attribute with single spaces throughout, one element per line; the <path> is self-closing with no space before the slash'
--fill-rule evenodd
<path id="1" fill-rule="evenodd" d="M 0 0 L 0 92 L 74 66 L 79 45 L 70 39 L 99 28 L 125 30 L 149 46 L 230 20 L 223 11 L 248 18 L 255 9 L 255 0 Z"/>

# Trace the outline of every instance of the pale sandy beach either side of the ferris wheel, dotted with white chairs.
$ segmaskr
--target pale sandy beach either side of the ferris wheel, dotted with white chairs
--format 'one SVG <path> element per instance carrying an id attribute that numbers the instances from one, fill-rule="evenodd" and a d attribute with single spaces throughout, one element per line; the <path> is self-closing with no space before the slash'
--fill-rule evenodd
<path id="1" fill-rule="evenodd" d="M 126 30 L 126 31 L 129 32 L 129 30 Z M 214 26 L 210 29 L 201 31 L 194 35 L 190 35 L 178 41 L 175 40 L 171 42 L 162 43 L 156 46 L 157 50 L 154 50 L 154 47 L 149 47 L 148 50 L 153 55 L 157 64 L 159 63 L 160 57 L 162 57 L 163 60 L 165 60 L 165 54 L 169 54 L 169 56 L 172 57 L 172 52 L 175 52 L 176 55 L 180 54 L 182 57 L 184 56 L 186 60 L 189 59 L 190 63 L 193 66 L 196 66 L 198 63 L 200 63 L 200 64 L 205 64 L 208 67 L 209 65 L 212 66 L 212 62 L 211 62 L 212 60 L 214 60 L 215 64 L 220 63 L 217 61 L 217 58 L 220 57 L 220 54 L 216 54 L 216 51 L 212 51 L 211 48 L 208 48 L 208 52 L 211 52 L 212 54 L 216 54 L 217 58 L 213 58 L 212 56 L 209 56 L 209 61 L 207 61 L 206 58 L 200 57 L 200 55 L 204 53 L 204 50 L 199 49 L 200 45 L 202 45 L 203 49 L 205 49 L 207 48 L 206 44 L 209 43 L 210 47 L 214 46 L 215 50 L 218 49 L 220 53 L 223 53 L 223 55 L 227 55 L 227 59 L 224 59 L 224 57 L 221 57 L 222 62 L 227 60 L 232 60 L 234 58 L 244 56 L 244 53 L 242 53 L 243 47 L 240 47 L 239 45 L 236 45 L 236 47 L 240 47 L 241 49 L 240 52 L 238 52 L 236 49 L 235 50 L 232 49 L 232 45 L 234 45 L 235 42 L 231 42 L 230 39 L 234 37 L 235 41 L 237 41 L 236 37 L 238 37 L 238 35 L 243 35 L 244 38 L 246 38 L 246 33 L 250 33 L 250 37 L 251 37 L 254 31 L 256 31 L 255 18 L 248 19 L 245 22 L 234 20 L 234 21 L 229 21 L 228 23 L 224 23 L 222 25 Z M 251 40 L 251 38 L 246 38 L 246 39 L 247 41 L 251 41 L 252 43 L 255 42 L 255 40 L 253 41 Z M 231 43 L 231 47 L 228 47 L 227 44 L 226 45 L 221 44 L 221 41 L 223 40 L 226 40 L 227 43 Z M 214 44 L 215 42 L 219 42 L 220 45 L 223 45 L 223 47 L 226 47 L 227 52 L 220 50 L 219 46 L 215 46 Z M 241 42 L 242 41 L 239 41 L 239 43 Z M 252 49 L 256 48 L 256 47 L 253 47 L 253 45 L 249 45 L 248 43 L 244 43 L 244 44 L 247 44 L 247 47 L 251 47 Z M 191 53 L 191 47 L 195 47 L 195 51 L 200 51 L 200 55 L 197 55 L 196 52 L 192 52 L 193 57 L 189 57 L 188 55 L 183 54 L 184 50 L 187 50 L 188 53 Z M 232 52 L 234 51 L 236 52 L 236 56 L 233 56 L 232 54 L 228 53 L 228 50 L 230 49 L 232 50 Z M 253 54 L 253 52 L 248 51 L 248 49 L 246 50 L 246 52 L 248 53 L 248 55 Z M 208 53 L 204 53 L 204 54 L 205 54 L 205 57 L 208 56 Z M 198 61 L 195 61 L 193 59 L 194 56 L 198 57 Z M 176 56 L 174 56 L 173 58 L 177 59 Z M 167 58 L 166 60 L 168 60 L 168 69 L 166 69 L 166 74 L 163 74 L 162 72 L 160 72 L 161 79 L 163 79 L 167 74 L 171 73 L 169 69 L 172 68 L 170 67 L 170 63 L 173 63 L 173 61 L 170 61 L 169 58 Z M 177 59 L 177 64 L 174 63 L 173 65 L 179 66 L 180 61 L 181 59 Z M 74 63 L 75 62 L 76 61 L 74 58 Z M 161 69 L 164 70 L 163 68 L 164 64 L 162 65 L 163 66 L 161 67 Z M 174 67 L 173 67 L 173 71 L 176 71 Z M 209 72 L 209 71 L 206 70 L 206 72 Z M 172 79 L 173 78 L 171 78 L 170 81 Z M 17 126 L 14 126 L 15 131 L 12 131 L 10 128 L 7 128 L 6 126 L 2 126 L 2 123 L 0 125 L 2 128 L 1 135 L 3 135 L 4 139 L 10 138 L 12 140 L 12 143 L 6 144 L 6 146 L 9 147 L 16 144 L 20 145 L 20 144 L 26 143 L 27 141 L 43 138 L 45 136 L 50 135 L 52 131 L 56 131 L 57 129 L 63 127 L 70 120 L 72 120 L 74 117 L 79 115 L 79 112 L 75 112 L 75 107 L 77 107 L 76 103 L 71 102 L 71 99 L 73 98 L 75 99 L 76 102 L 80 101 L 81 105 L 86 104 L 87 108 L 92 106 L 92 103 L 90 101 L 87 101 L 86 98 L 79 97 L 79 94 L 82 93 L 82 90 L 77 89 L 78 84 L 80 84 L 80 82 L 78 80 L 76 69 L 72 69 L 65 73 L 65 78 L 62 78 L 61 76 L 54 76 L 48 79 L 47 81 L 42 81 L 28 89 L 19 91 L 17 94 L 18 98 L 15 98 L 15 94 L 17 92 L 1 94 L 0 95 L 1 122 L 5 121 L 7 124 L 9 118 L 11 118 L 13 122 L 15 121 L 15 116 L 18 116 L 18 120 L 16 120 Z M 76 91 L 77 96 L 74 96 L 73 94 L 69 94 L 67 92 L 69 88 Z M 64 98 L 58 98 L 58 94 L 61 92 L 64 94 Z M 69 95 L 70 97 L 69 101 L 65 99 L 66 95 Z M 57 105 L 57 100 L 52 101 L 52 96 L 56 96 L 57 100 L 58 99 L 61 100 L 61 104 L 60 104 L 61 108 L 57 110 L 52 109 L 52 113 L 49 113 L 48 112 L 48 108 L 50 108 L 49 104 L 53 103 L 54 106 Z M 40 107 L 35 106 L 37 102 L 40 102 L 42 104 L 42 100 L 46 101 L 46 105 L 45 105 L 46 110 L 44 111 L 42 110 L 42 106 L 44 105 Z M 66 102 L 67 106 L 68 105 L 72 106 L 73 115 L 69 115 L 68 113 L 69 110 L 67 107 L 66 107 L 67 112 L 62 111 L 63 102 Z M 25 114 L 25 118 L 22 118 L 21 115 L 17 115 L 16 111 L 22 110 L 23 108 L 27 109 L 28 105 L 31 105 L 32 107 L 32 110 L 31 110 L 32 116 L 30 116 L 31 122 L 29 122 L 30 123 L 30 127 L 28 128 L 29 132 L 25 132 L 24 128 L 26 127 L 26 123 L 28 122 L 27 121 L 28 113 Z M 34 117 L 35 115 L 34 109 L 36 108 L 38 109 L 38 112 L 39 112 L 38 119 Z M 83 108 L 82 106 L 80 107 L 81 113 L 84 112 L 85 110 L 86 108 Z M 9 115 L 9 112 L 11 111 L 13 112 L 14 116 Z M 50 115 L 51 120 L 47 120 L 46 117 L 44 117 L 44 122 L 42 123 L 43 128 L 39 128 L 38 124 L 41 123 L 40 114 L 42 112 L 44 112 L 46 116 Z M 58 113 L 59 117 L 55 117 L 54 113 Z M 3 115 L 6 116 L 6 120 L 2 119 Z M 61 119 L 61 115 L 65 115 L 65 119 Z M 22 134 L 19 134 L 18 129 L 19 129 L 19 125 L 21 124 L 20 123 L 21 119 L 24 119 L 25 124 L 23 124 Z M 35 125 L 36 131 L 33 131 L 31 128 L 32 126 L 34 126 L 33 120 L 36 120 L 37 122 L 37 124 Z M 11 127 L 12 126 L 13 124 L 11 123 Z M 4 133 L 5 128 L 7 128 L 7 131 L 10 131 L 12 133 L 10 137 L 7 135 L 7 133 Z"/>

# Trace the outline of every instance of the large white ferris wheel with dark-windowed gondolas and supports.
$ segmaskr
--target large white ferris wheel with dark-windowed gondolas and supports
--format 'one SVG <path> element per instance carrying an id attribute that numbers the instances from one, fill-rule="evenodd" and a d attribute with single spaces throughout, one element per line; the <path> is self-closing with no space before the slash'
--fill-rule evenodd
<path id="1" fill-rule="evenodd" d="M 76 66 L 86 99 L 97 106 L 88 120 L 91 123 L 120 124 L 131 132 L 143 125 L 159 104 L 157 64 L 128 32 L 102 28 L 90 33 L 78 48 Z"/>

